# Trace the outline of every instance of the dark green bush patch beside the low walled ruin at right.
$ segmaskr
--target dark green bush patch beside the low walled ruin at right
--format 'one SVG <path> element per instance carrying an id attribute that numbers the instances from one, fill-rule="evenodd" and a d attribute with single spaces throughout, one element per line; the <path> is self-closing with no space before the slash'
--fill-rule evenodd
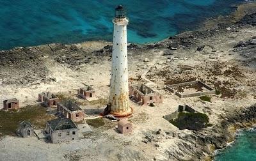
<path id="1" fill-rule="evenodd" d="M 180 112 L 178 118 L 170 120 L 170 123 L 180 130 L 201 130 L 205 127 L 211 127 L 211 124 L 208 125 L 208 116 L 200 112 Z"/>

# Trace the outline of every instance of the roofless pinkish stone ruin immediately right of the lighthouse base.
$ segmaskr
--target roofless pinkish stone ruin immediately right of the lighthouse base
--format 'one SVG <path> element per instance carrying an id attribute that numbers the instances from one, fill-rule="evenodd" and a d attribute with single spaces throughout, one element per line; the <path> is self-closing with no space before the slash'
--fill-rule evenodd
<path id="1" fill-rule="evenodd" d="M 137 84 L 129 87 L 129 96 L 140 105 L 149 105 L 150 103 L 162 103 L 163 96 L 153 91 L 144 84 Z"/>

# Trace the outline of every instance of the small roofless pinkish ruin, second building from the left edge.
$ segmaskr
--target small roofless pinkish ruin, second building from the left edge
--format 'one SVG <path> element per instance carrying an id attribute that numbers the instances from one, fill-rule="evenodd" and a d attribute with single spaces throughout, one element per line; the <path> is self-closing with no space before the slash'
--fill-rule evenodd
<path id="1" fill-rule="evenodd" d="M 59 98 L 51 92 L 42 92 L 38 94 L 38 101 L 43 102 L 47 107 L 52 107 L 57 105 Z"/>

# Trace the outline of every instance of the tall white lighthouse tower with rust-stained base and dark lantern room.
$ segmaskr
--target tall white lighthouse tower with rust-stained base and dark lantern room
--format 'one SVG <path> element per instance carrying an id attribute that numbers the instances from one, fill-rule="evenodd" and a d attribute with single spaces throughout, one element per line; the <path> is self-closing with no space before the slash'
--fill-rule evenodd
<path id="1" fill-rule="evenodd" d="M 129 107 L 128 65 L 127 65 L 127 24 L 128 19 L 124 7 L 115 8 L 113 19 L 113 51 L 109 93 L 109 112 L 114 116 L 128 116 Z"/>

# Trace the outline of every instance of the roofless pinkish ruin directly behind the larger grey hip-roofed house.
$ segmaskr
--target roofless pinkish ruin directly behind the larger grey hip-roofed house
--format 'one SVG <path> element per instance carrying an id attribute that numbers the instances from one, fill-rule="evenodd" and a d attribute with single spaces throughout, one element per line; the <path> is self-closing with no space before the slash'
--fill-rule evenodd
<path id="1" fill-rule="evenodd" d="M 73 121 L 81 121 L 84 119 L 84 111 L 71 100 L 58 103 L 57 111 L 60 112 L 65 118 L 70 118 Z"/>

